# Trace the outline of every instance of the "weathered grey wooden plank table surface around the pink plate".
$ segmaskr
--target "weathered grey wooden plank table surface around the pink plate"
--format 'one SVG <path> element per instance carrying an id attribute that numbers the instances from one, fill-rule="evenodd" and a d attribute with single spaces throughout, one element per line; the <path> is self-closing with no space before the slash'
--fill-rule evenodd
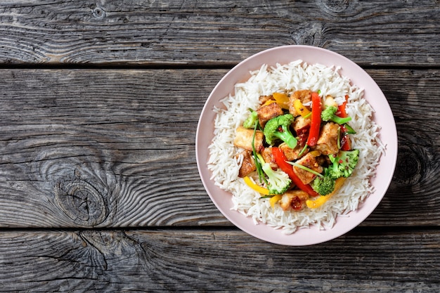
<path id="1" fill-rule="evenodd" d="M 440 4 L 3 1 L 0 292 L 439 292 Z M 361 65 L 399 157 L 381 204 L 321 245 L 235 228 L 195 162 L 210 91 L 274 46 Z"/>

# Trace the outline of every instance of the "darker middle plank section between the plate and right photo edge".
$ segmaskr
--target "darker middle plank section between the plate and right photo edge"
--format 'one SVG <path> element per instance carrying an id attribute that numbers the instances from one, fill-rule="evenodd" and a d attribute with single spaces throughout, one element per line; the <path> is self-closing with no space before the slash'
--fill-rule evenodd
<path id="1" fill-rule="evenodd" d="M 439 70 L 368 70 L 392 107 L 399 138 L 396 170 L 377 220 L 396 226 L 439 226 Z M 402 82 L 402 80 L 408 81 Z M 412 214 L 413 216 L 410 216 Z M 415 216 L 418 214 L 419 216 Z M 375 218 L 375 217 L 373 217 Z M 376 219 L 375 219 L 376 220 Z"/>

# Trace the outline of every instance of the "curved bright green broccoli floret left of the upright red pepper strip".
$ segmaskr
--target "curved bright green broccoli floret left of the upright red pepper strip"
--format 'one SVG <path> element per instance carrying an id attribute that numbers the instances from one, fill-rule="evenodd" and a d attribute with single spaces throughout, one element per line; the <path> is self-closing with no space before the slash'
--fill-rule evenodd
<path id="1" fill-rule="evenodd" d="M 295 117 L 292 114 L 280 115 L 270 119 L 263 130 L 266 143 L 273 145 L 278 138 L 284 141 L 289 148 L 295 148 L 298 141 L 290 132 L 290 124 L 292 124 L 294 119 Z"/>

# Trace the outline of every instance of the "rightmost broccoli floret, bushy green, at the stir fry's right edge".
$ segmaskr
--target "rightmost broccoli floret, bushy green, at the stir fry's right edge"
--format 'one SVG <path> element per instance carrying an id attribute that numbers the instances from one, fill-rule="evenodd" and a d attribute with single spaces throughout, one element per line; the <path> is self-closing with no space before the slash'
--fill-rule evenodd
<path id="1" fill-rule="evenodd" d="M 337 155 L 329 155 L 332 164 L 329 166 L 329 174 L 332 178 L 349 177 L 354 167 L 358 164 L 359 150 L 339 150 Z"/>

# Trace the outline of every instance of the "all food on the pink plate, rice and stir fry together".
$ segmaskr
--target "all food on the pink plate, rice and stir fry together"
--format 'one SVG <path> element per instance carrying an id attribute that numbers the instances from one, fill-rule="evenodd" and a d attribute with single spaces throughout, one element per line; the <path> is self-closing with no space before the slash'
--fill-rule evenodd
<path id="1" fill-rule="evenodd" d="M 379 126 L 363 89 L 339 70 L 263 65 L 215 109 L 208 168 L 233 209 L 293 233 L 331 228 L 372 193 Z"/>

